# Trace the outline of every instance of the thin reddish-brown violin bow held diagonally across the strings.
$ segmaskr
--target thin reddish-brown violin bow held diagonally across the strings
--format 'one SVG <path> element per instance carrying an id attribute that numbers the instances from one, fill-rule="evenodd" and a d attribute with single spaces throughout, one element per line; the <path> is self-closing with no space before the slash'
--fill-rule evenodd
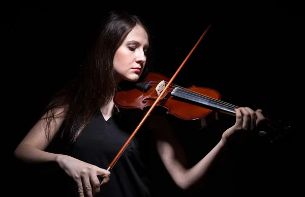
<path id="1" fill-rule="evenodd" d="M 199 38 L 199 40 L 197 41 L 197 43 L 195 44 L 195 46 L 193 47 L 193 49 L 190 51 L 190 53 L 188 54 L 188 56 L 186 57 L 186 59 L 182 62 L 182 64 L 179 66 L 179 68 L 177 69 L 177 71 L 175 72 L 175 74 L 172 76 L 172 78 L 169 80 L 169 82 L 167 83 L 166 87 L 163 89 L 163 91 L 159 94 L 158 98 L 156 99 L 156 101 L 154 102 L 153 105 L 151 105 L 151 107 L 149 108 L 149 110 L 146 112 L 146 115 L 143 117 L 143 119 L 140 121 L 139 125 L 136 127 L 136 129 L 133 131 L 133 133 L 130 135 L 130 137 L 127 139 L 126 143 L 124 144 L 124 146 L 120 149 L 120 151 L 117 153 L 117 155 L 114 157 L 114 159 L 112 160 L 112 162 L 110 163 L 110 165 L 107 168 L 107 171 L 110 171 L 110 169 L 112 169 L 112 167 L 114 166 L 114 164 L 116 163 L 116 161 L 119 159 L 119 157 L 124 153 L 124 151 L 126 150 L 127 146 L 130 144 L 131 140 L 133 139 L 133 137 L 135 136 L 135 134 L 138 132 L 138 130 L 140 129 L 140 127 L 142 126 L 142 124 L 144 123 L 144 121 L 147 119 L 148 115 L 150 114 L 150 112 L 154 109 L 154 107 L 157 105 L 157 103 L 159 102 L 159 100 L 161 99 L 161 97 L 163 96 L 163 94 L 165 93 L 165 91 L 168 89 L 168 87 L 171 85 L 172 81 L 174 80 L 174 78 L 177 76 L 178 72 L 181 70 L 181 68 L 185 65 L 185 63 L 187 62 L 187 60 L 190 58 L 191 54 L 193 53 L 193 51 L 195 50 L 195 48 L 197 47 L 197 45 L 200 43 L 200 41 L 203 39 L 203 37 L 206 35 L 206 33 L 208 32 L 208 29 L 211 25 L 208 25 L 207 29 L 204 31 L 204 33 L 201 35 L 201 37 Z"/>

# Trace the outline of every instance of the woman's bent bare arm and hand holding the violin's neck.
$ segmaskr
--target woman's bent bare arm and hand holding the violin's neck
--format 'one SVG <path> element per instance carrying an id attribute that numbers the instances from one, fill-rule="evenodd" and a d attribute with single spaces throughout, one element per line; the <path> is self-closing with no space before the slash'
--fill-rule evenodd
<path id="1" fill-rule="evenodd" d="M 191 168 L 186 168 L 186 157 L 181 146 L 178 144 L 177 139 L 175 139 L 173 131 L 166 122 L 166 119 L 161 118 L 151 118 L 149 124 L 150 129 L 157 137 L 157 150 L 159 155 L 171 175 L 173 181 L 182 189 L 188 189 L 200 179 L 204 178 L 205 174 L 208 172 L 209 168 L 216 159 L 221 156 L 223 151 L 227 148 L 227 141 L 236 132 L 251 131 L 255 128 L 264 117 L 261 115 L 260 110 L 254 112 L 250 108 L 240 108 L 235 109 L 236 111 L 236 123 L 231 128 L 227 129 L 219 143 L 197 164 Z M 241 115 L 241 111 L 243 117 Z M 160 122 L 161 121 L 161 122 Z M 153 124 L 155 123 L 155 124 Z M 158 127 L 162 125 L 162 127 Z"/>

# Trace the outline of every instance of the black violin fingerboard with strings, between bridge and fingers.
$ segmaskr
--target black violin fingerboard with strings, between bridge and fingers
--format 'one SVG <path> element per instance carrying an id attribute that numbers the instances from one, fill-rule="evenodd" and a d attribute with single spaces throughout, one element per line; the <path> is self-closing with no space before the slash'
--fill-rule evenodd
<path id="1" fill-rule="evenodd" d="M 192 103 L 197 105 L 203 105 L 203 107 L 206 108 L 217 109 L 223 112 L 224 114 L 235 116 L 235 110 L 234 110 L 234 108 L 236 107 L 235 105 L 198 94 L 188 89 L 176 87 L 171 92 L 171 95 L 181 99 L 185 99 L 187 101 L 191 101 Z"/>

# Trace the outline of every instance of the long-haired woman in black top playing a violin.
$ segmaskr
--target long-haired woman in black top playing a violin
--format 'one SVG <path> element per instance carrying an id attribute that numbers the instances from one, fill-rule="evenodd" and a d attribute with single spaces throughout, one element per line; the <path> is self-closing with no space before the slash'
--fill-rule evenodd
<path id="1" fill-rule="evenodd" d="M 151 136 L 173 181 L 188 189 L 204 178 L 233 134 L 252 131 L 264 119 L 261 110 L 236 108 L 236 123 L 201 161 L 186 168 L 167 122 L 152 115 L 114 167 L 105 170 L 139 123 L 120 113 L 113 97 L 118 88 L 147 74 L 150 55 L 144 22 L 127 13 L 110 13 L 79 77 L 55 95 L 16 148 L 15 157 L 27 163 L 56 163 L 68 175 L 65 196 L 151 196 L 146 152 L 153 145 Z M 161 124 L 164 130 L 158 127 Z M 48 151 L 58 140 L 63 149 Z"/>

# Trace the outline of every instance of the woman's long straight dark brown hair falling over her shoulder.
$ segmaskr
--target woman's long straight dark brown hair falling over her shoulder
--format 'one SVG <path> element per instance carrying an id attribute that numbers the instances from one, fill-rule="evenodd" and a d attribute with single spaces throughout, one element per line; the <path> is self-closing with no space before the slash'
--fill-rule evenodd
<path id="1" fill-rule="evenodd" d="M 149 49 L 146 56 L 145 70 L 151 58 L 151 38 L 143 20 L 126 12 L 110 12 L 102 23 L 102 29 L 79 75 L 52 97 L 45 108 L 46 131 L 48 131 L 56 109 L 64 109 L 65 121 L 60 128 L 60 136 L 75 142 L 82 129 L 94 118 L 100 107 L 107 104 L 116 94 L 117 83 L 113 69 L 116 50 L 126 36 L 137 25 L 141 25 L 148 34 Z M 47 133 L 49 137 L 49 134 Z"/>

